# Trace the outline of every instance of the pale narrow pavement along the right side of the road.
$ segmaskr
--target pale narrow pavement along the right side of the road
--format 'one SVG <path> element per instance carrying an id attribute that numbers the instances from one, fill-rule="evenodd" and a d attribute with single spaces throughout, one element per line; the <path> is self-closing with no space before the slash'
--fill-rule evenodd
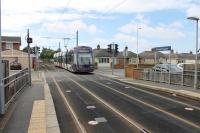
<path id="1" fill-rule="evenodd" d="M 146 80 L 127 78 L 124 76 L 124 69 L 114 69 L 112 72 L 112 70 L 109 68 L 99 68 L 95 70 L 94 73 L 111 77 L 136 86 L 148 87 L 149 89 L 160 90 L 195 100 L 200 100 L 200 89 L 194 89 L 192 87 L 181 86 L 181 85 L 173 85 L 167 83 L 158 83 Z"/>

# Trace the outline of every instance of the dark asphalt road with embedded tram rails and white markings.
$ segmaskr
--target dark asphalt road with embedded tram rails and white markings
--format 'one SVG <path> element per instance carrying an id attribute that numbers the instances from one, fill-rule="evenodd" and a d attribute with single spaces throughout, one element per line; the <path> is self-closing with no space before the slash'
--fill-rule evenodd
<path id="1" fill-rule="evenodd" d="M 61 132 L 199 133 L 199 101 L 43 66 Z"/>

